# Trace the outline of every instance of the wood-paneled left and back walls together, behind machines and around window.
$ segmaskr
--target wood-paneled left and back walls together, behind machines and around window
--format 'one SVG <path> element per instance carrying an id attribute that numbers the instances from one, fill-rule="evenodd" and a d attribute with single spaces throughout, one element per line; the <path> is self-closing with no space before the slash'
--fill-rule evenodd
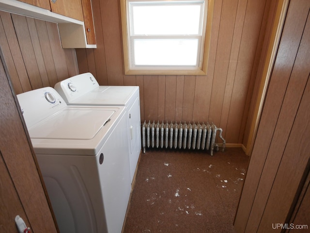
<path id="1" fill-rule="evenodd" d="M 119 1 L 92 0 L 97 49 L 77 49 L 78 65 L 57 25 L 42 20 L 0 12 L 0 46 L 16 94 L 92 72 L 101 85 L 140 86 L 142 121 L 214 122 L 227 143 L 246 144 L 274 2 L 215 1 L 206 76 L 124 75 Z"/>

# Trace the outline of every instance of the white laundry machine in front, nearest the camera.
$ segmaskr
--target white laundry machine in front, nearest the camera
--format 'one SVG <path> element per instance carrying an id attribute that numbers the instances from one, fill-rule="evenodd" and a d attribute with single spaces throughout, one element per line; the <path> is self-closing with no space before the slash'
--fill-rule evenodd
<path id="1" fill-rule="evenodd" d="M 61 233 L 121 233 L 131 191 L 124 106 L 17 95 Z"/>

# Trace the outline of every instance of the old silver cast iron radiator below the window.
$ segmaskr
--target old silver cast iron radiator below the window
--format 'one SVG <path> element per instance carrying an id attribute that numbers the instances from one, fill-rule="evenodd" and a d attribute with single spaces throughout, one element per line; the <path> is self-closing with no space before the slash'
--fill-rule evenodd
<path id="1" fill-rule="evenodd" d="M 222 137 L 223 130 L 217 128 L 213 123 L 148 123 L 144 121 L 141 126 L 142 148 L 145 153 L 146 148 L 163 149 L 187 149 L 187 150 L 210 150 L 218 151 L 215 143 L 217 131 L 218 136 L 223 141 L 222 151 L 225 149 L 225 139 Z"/>

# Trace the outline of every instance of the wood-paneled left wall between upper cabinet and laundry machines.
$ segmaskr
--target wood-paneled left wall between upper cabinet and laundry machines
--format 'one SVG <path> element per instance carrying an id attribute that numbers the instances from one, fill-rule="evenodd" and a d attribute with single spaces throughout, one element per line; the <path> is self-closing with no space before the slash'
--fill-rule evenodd
<path id="1" fill-rule="evenodd" d="M 62 49 L 57 24 L 0 11 L 0 46 L 16 94 L 78 74 L 74 49 Z"/>

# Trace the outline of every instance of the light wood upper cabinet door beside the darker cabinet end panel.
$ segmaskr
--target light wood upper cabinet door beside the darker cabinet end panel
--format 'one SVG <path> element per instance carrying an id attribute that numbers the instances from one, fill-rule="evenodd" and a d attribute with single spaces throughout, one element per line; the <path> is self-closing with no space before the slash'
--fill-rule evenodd
<path id="1" fill-rule="evenodd" d="M 81 0 L 50 0 L 50 8 L 54 13 L 84 21 Z"/>

